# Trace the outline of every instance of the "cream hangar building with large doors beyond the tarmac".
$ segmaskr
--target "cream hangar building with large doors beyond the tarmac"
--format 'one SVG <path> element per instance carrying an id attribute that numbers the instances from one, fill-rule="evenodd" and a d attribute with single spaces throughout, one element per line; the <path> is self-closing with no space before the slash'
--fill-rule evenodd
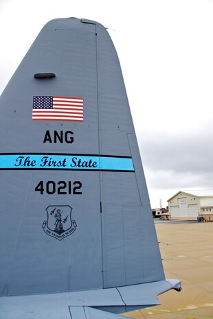
<path id="1" fill-rule="evenodd" d="M 197 220 L 202 216 L 205 220 L 213 220 L 213 196 L 198 196 L 179 191 L 168 199 L 168 211 L 171 217 Z"/>

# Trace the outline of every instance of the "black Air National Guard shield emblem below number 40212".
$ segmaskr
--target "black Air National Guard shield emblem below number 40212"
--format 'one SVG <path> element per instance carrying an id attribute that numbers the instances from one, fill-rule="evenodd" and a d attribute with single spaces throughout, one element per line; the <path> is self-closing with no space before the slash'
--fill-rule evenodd
<path id="1" fill-rule="evenodd" d="M 47 220 L 43 222 L 44 232 L 58 240 L 61 240 L 76 230 L 75 220 L 71 220 L 72 208 L 69 205 L 48 206 Z"/>

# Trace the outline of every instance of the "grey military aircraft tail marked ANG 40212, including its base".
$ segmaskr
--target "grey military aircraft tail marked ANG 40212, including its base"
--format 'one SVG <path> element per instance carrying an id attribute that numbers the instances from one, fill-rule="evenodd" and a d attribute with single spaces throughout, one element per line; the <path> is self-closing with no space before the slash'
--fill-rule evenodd
<path id="1" fill-rule="evenodd" d="M 181 290 L 164 276 L 105 27 L 49 21 L 1 95 L 0 123 L 1 319 L 120 318 Z"/>

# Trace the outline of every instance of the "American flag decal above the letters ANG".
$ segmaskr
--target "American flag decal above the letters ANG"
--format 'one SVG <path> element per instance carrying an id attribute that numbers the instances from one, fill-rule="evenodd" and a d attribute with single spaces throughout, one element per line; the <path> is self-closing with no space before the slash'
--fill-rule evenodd
<path id="1" fill-rule="evenodd" d="M 83 121 L 82 97 L 34 96 L 33 121 Z"/>

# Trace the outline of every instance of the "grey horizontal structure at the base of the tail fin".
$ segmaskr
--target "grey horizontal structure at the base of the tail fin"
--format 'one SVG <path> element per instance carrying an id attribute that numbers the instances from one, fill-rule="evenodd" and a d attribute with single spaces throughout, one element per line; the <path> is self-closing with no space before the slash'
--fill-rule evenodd
<path id="1" fill-rule="evenodd" d="M 104 290 L 1 297 L 0 318 L 118 319 L 119 313 L 160 305 L 159 294 L 180 287 L 179 281 L 171 279 Z"/>

